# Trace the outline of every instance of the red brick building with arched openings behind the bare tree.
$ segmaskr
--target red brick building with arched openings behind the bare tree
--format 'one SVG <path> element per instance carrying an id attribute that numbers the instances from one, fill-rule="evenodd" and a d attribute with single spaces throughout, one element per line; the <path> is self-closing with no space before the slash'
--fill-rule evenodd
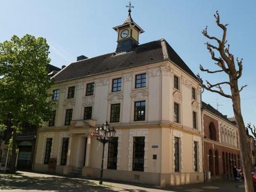
<path id="1" fill-rule="evenodd" d="M 238 129 L 227 116 L 203 102 L 204 170 L 212 177 L 222 177 L 234 166 L 240 166 Z"/>

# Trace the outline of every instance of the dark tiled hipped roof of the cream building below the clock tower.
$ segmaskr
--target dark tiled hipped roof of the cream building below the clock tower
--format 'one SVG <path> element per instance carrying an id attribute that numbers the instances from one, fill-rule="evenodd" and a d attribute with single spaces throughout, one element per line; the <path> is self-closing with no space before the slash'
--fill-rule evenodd
<path id="1" fill-rule="evenodd" d="M 167 55 L 164 54 L 166 52 Z M 138 66 L 166 60 L 171 60 L 180 69 L 187 72 L 191 77 L 197 80 L 195 74 L 188 68 L 186 63 L 182 61 L 179 55 L 165 39 L 139 45 L 131 52 L 119 54 L 109 53 L 70 63 L 66 68 L 55 74 L 53 78 L 55 79 L 55 82 L 68 81 L 97 74 L 137 68 Z"/>

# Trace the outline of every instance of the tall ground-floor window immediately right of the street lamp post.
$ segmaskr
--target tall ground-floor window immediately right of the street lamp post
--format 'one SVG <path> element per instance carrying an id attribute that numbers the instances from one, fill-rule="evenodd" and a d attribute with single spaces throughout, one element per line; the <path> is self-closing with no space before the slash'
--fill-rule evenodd
<path id="1" fill-rule="evenodd" d="M 108 144 L 108 169 L 116 169 L 118 137 L 114 137 Z"/>

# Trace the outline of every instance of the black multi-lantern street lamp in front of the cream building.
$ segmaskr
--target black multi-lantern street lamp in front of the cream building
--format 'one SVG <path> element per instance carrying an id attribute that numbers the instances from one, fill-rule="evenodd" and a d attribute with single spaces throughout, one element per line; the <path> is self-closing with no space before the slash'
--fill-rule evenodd
<path id="1" fill-rule="evenodd" d="M 99 140 L 103 144 L 102 160 L 101 160 L 101 168 L 100 168 L 100 185 L 102 185 L 105 144 L 111 141 L 113 137 L 115 137 L 115 133 L 116 133 L 116 130 L 114 129 L 114 127 L 110 128 L 108 121 L 106 121 L 101 126 L 98 126 L 95 129 L 95 132 L 92 133 L 92 136 L 97 137 L 97 140 Z"/>

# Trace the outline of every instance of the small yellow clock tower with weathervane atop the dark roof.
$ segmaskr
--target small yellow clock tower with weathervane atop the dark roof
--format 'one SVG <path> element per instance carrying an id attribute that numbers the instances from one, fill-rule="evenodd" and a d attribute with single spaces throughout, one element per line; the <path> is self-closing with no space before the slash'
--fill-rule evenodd
<path id="1" fill-rule="evenodd" d="M 113 28 L 118 33 L 116 53 L 132 51 L 133 48 L 139 45 L 139 35 L 144 32 L 143 29 L 132 20 L 131 8 L 133 8 L 133 6 L 131 2 L 126 7 L 129 7 L 127 19 L 125 19 L 124 23 L 120 26 Z"/>

